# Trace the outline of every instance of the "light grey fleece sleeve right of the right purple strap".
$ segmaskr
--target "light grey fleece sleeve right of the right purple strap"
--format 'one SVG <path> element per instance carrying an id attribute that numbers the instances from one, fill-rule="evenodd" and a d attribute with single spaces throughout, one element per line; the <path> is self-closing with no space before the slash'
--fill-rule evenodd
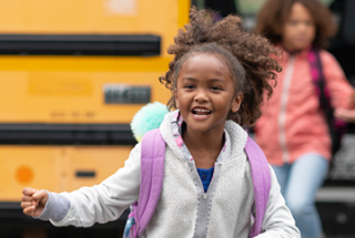
<path id="1" fill-rule="evenodd" d="M 295 225 L 290 209 L 280 192 L 280 185 L 272 167 L 271 189 L 268 201 L 262 224 L 263 232 L 257 238 L 301 238 L 301 232 Z"/>

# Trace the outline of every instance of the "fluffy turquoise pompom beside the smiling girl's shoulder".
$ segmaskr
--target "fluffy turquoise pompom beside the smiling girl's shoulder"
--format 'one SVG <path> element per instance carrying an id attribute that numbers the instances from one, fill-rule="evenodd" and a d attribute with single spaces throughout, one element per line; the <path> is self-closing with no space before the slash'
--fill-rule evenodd
<path id="1" fill-rule="evenodd" d="M 166 105 L 159 102 L 143 106 L 131 122 L 134 138 L 140 142 L 146 132 L 159 128 L 166 113 L 169 113 Z"/>

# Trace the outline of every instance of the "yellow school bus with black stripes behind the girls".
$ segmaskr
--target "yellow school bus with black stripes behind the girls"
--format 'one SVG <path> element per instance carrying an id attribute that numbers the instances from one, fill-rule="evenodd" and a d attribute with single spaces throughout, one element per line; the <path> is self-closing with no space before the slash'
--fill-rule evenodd
<path id="1" fill-rule="evenodd" d="M 134 113 L 166 103 L 166 48 L 189 0 L 0 0 L 0 209 L 26 186 L 99 184 L 123 166 Z"/>

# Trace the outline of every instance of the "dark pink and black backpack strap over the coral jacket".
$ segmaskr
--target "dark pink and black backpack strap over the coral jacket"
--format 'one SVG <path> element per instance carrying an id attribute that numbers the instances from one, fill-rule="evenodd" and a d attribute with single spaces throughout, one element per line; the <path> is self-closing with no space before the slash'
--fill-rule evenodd
<path id="1" fill-rule="evenodd" d="M 315 92 L 320 99 L 320 106 L 325 113 L 329 128 L 329 135 L 332 138 L 332 157 L 334 159 L 334 155 L 341 148 L 342 138 L 346 132 L 346 123 L 334 117 L 334 108 L 331 104 L 329 90 L 325 84 L 320 49 L 315 46 L 311 49 L 308 52 L 308 61 L 311 64 L 311 74 L 315 85 Z"/>

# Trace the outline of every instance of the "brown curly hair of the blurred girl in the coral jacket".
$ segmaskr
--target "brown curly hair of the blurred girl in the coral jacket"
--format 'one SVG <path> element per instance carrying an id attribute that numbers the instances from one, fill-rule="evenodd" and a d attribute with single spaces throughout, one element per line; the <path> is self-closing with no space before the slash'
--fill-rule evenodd
<path id="1" fill-rule="evenodd" d="M 327 40 L 335 35 L 337 27 L 332 12 L 318 0 L 268 0 L 257 14 L 255 33 L 263 34 L 272 43 L 282 41 L 282 29 L 295 2 L 303 4 L 314 19 L 316 34 L 314 45 L 327 48 Z"/>

